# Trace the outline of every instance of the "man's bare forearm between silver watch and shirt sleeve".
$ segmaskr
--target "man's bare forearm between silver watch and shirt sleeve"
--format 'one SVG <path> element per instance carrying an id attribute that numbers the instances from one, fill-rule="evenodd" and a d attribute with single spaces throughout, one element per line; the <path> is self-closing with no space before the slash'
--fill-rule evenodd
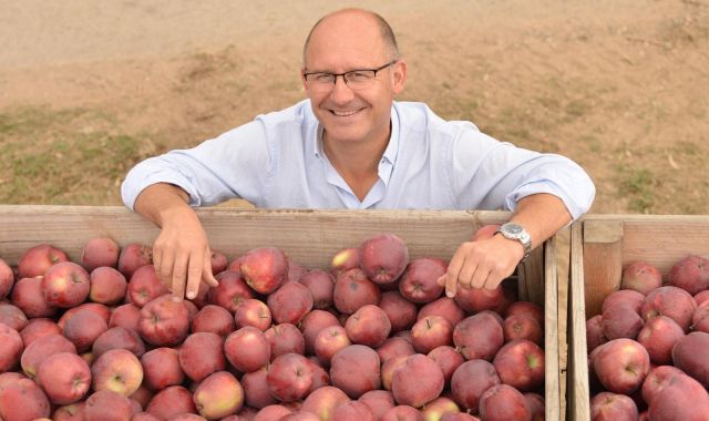
<path id="1" fill-rule="evenodd" d="M 543 193 L 520 199 L 511 220 L 530 233 L 535 248 L 571 223 L 572 215 L 562 199 Z"/>

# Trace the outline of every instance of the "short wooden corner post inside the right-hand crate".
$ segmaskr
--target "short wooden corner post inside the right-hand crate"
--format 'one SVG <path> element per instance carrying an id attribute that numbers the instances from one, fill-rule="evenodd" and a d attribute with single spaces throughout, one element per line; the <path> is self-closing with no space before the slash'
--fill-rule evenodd
<path id="1" fill-rule="evenodd" d="M 584 292 L 586 317 L 600 312 L 603 298 L 620 287 L 623 224 L 586 220 L 584 230 Z"/>

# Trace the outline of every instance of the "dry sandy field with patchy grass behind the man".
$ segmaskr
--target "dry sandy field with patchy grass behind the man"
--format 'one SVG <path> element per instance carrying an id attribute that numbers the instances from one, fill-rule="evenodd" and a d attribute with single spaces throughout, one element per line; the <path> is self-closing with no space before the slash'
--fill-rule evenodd
<path id="1" fill-rule="evenodd" d="M 305 96 L 332 1 L 0 0 L 0 203 L 117 205 L 138 160 Z M 401 100 L 565 154 L 593 212 L 709 214 L 709 1 L 361 1 Z"/>

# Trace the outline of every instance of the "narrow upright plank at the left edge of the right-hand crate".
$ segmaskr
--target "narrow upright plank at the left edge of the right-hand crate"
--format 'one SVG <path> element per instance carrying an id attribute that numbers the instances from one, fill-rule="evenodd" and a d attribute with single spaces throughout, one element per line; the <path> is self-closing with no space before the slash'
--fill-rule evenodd
<path id="1" fill-rule="evenodd" d="M 568 374 L 566 376 L 567 419 L 588 421 L 590 418 L 588 362 L 586 358 L 586 308 L 584 299 L 584 244 L 583 226 L 572 225 L 571 233 L 571 284 L 568 288 Z"/>

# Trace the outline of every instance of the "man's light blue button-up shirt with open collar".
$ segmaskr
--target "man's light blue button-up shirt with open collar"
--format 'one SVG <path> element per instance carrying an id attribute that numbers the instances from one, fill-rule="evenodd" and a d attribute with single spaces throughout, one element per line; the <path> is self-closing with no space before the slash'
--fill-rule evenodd
<path id="1" fill-rule="evenodd" d="M 564 156 L 499 142 L 422 103 L 394 102 L 379 178 L 360 202 L 328 161 L 321 135 L 305 100 L 196 147 L 143 161 L 126 175 L 123 201 L 133 208 L 155 183 L 182 187 L 192 206 L 244 198 L 264 208 L 514 210 L 521 198 L 548 193 L 577 218 L 595 195 L 588 175 Z"/>

